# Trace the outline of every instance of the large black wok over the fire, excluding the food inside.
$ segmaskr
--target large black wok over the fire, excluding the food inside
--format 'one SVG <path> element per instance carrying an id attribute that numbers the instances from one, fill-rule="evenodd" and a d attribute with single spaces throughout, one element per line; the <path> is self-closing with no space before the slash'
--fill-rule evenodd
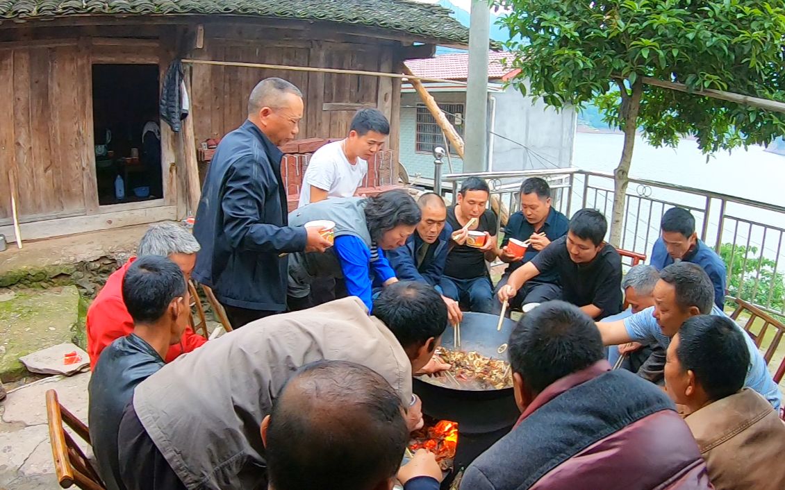
<path id="1" fill-rule="evenodd" d="M 507 343 L 515 322 L 505 318 L 498 332 L 498 316 L 484 313 L 465 313 L 461 321 L 461 347 L 458 350 L 476 350 L 492 358 L 507 360 L 507 352 L 498 354 L 498 348 Z M 448 326 L 442 345 L 453 346 L 453 328 Z M 458 423 L 458 450 L 455 470 L 471 463 L 480 453 L 491 447 L 512 429 L 520 416 L 512 388 L 503 390 L 466 390 L 429 382 L 425 376 L 414 378 L 414 393 L 422 398 L 422 411 L 437 420 Z M 448 478 L 451 481 L 451 477 Z"/>

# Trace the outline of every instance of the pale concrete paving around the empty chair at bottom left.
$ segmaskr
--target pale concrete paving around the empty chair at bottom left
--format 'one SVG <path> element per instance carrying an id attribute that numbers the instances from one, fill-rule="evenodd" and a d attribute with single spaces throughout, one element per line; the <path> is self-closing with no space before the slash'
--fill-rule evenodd
<path id="1" fill-rule="evenodd" d="M 89 378 L 89 373 L 49 376 L 10 390 L 5 401 L 0 401 L 0 488 L 60 488 L 49 445 L 45 394 L 57 390 L 60 404 L 86 423 Z M 81 441 L 78 436 L 75 440 Z"/>

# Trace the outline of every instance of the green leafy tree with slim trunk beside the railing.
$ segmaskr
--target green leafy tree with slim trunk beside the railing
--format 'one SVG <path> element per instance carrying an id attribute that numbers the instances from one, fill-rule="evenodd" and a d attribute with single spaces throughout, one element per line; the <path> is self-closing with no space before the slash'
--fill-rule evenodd
<path id="1" fill-rule="evenodd" d="M 619 245 L 637 129 L 654 146 L 692 135 L 710 154 L 770 143 L 785 114 L 661 89 L 644 77 L 769 100 L 785 93 L 785 2 L 772 0 L 491 0 L 520 69 L 513 85 L 560 109 L 592 101 L 623 130 L 611 241 Z M 521 39 L 518 41 L 517 39 Z"/>

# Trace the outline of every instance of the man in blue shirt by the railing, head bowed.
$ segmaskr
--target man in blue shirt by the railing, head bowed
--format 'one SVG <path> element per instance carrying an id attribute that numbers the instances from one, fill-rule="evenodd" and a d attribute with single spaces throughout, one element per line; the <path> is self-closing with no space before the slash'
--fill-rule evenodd
<path id="1" fill-rule="evenodd" d="M 674 263 L 675 260 L 697 263 L 709 274 L 714 285 L 714 304 L 722 309 L 725 305 L 725 281 L 727 270 L 717 252 L 700 241 L 695 230 L 695 217 L 682 208 L 671 208 L 663 215 L 660 223 L 663 235 L 654 243 L 652 266 L 657 270 Z"/>

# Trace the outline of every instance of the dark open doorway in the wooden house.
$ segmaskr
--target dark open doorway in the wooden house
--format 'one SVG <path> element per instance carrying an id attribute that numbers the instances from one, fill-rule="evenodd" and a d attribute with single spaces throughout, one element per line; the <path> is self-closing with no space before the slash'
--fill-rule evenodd
<path id="1" fill-rule="evenodd" d="M 163 197 L 158 99 L 158 65 L 93 65 L 100 205 Z"/>

